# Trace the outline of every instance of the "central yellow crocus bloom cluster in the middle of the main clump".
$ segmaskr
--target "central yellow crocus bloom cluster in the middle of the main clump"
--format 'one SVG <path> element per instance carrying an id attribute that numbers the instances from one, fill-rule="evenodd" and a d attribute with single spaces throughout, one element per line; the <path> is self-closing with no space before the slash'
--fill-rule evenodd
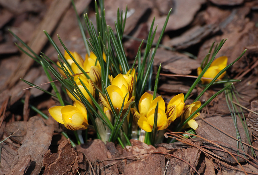
<path id="1" fill-rule="evenodd" d="M 130 70 L 128 71 L 130 72 Z M 132 71 L 133 72 L 133 71 Z M 110 96 L 112 105 L 114 106 L 116 113 L 122 108 L 124 101 L 124 109 L 127 109 L 134 97 L 132 96 L 132 90 L 134 85 L 134 77 L 131 74 L 122 75 L 118 74 L 115 78 L 110 76 L 110 84 L 107 87 L 107 93 Z M 99 100 L 108 110 L 111 110 L 111 105 L 107 101 L 107 96 L 103 96 L 99 93 Z"/>

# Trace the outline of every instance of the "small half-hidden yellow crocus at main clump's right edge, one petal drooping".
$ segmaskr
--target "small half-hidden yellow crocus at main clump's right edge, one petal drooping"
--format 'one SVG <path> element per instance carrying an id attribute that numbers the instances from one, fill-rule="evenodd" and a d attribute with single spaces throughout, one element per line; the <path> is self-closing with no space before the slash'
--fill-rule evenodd
<path id="1" fill-rule="evenodd" d="M 185 112 L 183 114 L 183 120 L 186 120 L 191 114 L 193 114 L 193 112 L 195 112 L 198 108 L 200 108 L 201 106 L 201 102 L 198 101 L 198 102 L 194 102 L 192 104 L 189 104 L 189 105 L 186 105 L 185 106 Z M 190 127 L 190 128 L 193 128 L 194 130 L 196 130 L 198 128 L 198 123 L 193 120 L 195 119 L 197 116 L 199 116 L 200 113 L 198 112 L 197 114 L 195 114 L 193 116 L 193 118 L 191 118 L 191 120 L 189 120 L 187 122 L 187 125 Z"/>

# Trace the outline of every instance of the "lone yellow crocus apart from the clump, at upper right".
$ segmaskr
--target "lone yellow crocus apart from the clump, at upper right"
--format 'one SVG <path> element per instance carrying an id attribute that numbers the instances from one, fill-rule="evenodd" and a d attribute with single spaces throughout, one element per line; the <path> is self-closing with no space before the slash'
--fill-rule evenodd
<path id="1" fill-rule="evenodd" d="M 204 73 L 203 77 L 204 78 L 211 78 L 211 79 L 204 79 L 202 78 L 201 81 L 203 84 L 205 83 L 210 83 L 212 81 L 212 79 L 222 70 L 227 66 L 227 62 L 228 62 L 228 57 L 226 56 L 222 56 L 222 57 L 218 57 L 217 59 L 215 59 L 211 64 L 210 67 L 206 70 L 206 72 Z M 201 74 L 202 72 L 202 68 L 198 67 L 197 69 L 197 74 L 198 76 Z M 218 79 L 222 79 L 224 77 L 224 75 L 226 74 L 226 72 L 222 73 Z"/>

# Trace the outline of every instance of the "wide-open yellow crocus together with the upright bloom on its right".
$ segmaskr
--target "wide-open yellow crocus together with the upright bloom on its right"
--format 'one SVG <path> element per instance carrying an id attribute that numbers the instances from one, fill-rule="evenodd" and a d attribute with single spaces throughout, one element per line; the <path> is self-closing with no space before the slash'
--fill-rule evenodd
<path id="1" fill-rule="evenodd" d="M 146 131 L 151 132 L 153 129 L 155 108 L 158 104 L 158 120 L 157 130 L 166 129 L 171 122 L 178 118 L 184 111 L 185 103 L 183 94 L 178 94 L 172 98 L 167 106 L 162 97 L 157 97 L 153 100 L 153 95 L 145 92 L 140 98 L 138 109 L 131 109 L 132 115 L 138 118 L 138 126 Z"/>

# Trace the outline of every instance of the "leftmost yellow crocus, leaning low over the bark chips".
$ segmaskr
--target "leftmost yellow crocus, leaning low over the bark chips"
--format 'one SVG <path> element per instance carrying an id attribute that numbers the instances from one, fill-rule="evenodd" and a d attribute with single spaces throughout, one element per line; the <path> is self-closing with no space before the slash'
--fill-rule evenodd
<path id="1" fill-rule="evenodd" d="M 87 111 L 80 101 L 74 105 L 54 106 L 48 109 L 50 115 L 69 130 L 85 130 L 88 128 Z"/>

